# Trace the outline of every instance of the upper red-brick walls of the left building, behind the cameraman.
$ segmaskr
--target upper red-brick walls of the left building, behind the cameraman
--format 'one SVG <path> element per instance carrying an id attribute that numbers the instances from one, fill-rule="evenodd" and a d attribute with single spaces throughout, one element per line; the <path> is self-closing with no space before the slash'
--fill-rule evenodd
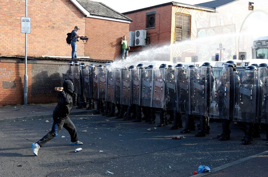
<path id="1" fill-rule="evenodd" d="M 78 25 L 78 34 L 89 37 L 89 43 L 84 45 L 82 40 L 77 43 L 77 56 L 113 60 L 120 53 L 119 39 L 128 35 L 129 23 L 85 17 L 70 0 L 28 0 L 27 5 L 31 17 L 28 56 L 71 57 L 72 48 L 66 44 L 66 34 Z M 25 34 L 21 33 L 25 1 L 1 1 L 0 14 L 0 55 L 25 55 Z"/>

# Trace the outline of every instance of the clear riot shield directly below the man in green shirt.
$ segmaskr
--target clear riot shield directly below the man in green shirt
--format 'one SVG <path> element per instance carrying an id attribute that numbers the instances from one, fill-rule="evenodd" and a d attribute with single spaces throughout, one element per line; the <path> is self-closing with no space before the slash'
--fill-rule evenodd
<path id="1" fill-rule="evenodd" d="M 131 78 L 129 70 L 121 70 L 122 83 L 121 83 L 121 103 L 130 106 L 131 104 Z"/>

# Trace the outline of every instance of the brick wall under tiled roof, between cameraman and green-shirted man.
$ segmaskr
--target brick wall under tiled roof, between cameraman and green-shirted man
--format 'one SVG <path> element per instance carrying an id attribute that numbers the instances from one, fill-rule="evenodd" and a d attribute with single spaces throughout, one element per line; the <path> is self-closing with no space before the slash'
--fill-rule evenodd
<path id="1" fill-rule="evenodd" d="M 113 60 L 121 57 L 121 39 L 128 39 L 129 23 L 86 18 L 85 55 L 97 60 Z"/>

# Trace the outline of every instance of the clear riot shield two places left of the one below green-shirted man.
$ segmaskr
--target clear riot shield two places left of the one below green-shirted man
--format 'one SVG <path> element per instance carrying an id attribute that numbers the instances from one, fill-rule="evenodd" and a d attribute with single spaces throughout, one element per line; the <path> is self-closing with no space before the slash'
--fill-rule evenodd
<path id="1" fill-rule="evenodd" d="M 114 102 L 114 85 L 113 85 L 113 73 L 111 70 L 106 70 L 106 92 L 105 101 Z"/>

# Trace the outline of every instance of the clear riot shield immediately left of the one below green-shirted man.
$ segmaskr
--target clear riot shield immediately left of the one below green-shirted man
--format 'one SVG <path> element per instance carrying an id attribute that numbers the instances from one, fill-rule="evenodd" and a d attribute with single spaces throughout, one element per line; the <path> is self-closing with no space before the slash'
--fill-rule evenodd
<path id="1" fill-rule="evenodd" d="M 114 69 L 112 70 L 113 73 L 113 84 L 114 84 L 114 100 L 115 104 L 120 104 L 121 103 L 121 71 L 119 69 Z"/>

